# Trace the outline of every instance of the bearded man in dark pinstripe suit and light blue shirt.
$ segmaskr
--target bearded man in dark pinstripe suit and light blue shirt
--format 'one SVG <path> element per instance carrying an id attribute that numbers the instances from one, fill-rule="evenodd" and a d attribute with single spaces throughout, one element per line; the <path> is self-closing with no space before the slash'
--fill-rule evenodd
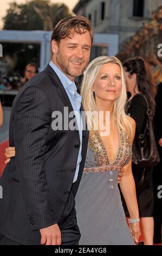
<path id="1" fill-rule="evenodd" d="M 51 36 L 53 57 L 16 96 L 9 144 L 16 149 L 0 179 L 1 245 L 75 245 L 79 242 L 75 194 L 86 159 L 86 130 L 54 129 L 55 111 L 83 125 L 75 77 L 89 62 L 93 27 L 86 17 L 67 17 Z M 67 110 L 67 108 L 66 108 Z M 68 123 L 72 118 L 68 118 Z"/>

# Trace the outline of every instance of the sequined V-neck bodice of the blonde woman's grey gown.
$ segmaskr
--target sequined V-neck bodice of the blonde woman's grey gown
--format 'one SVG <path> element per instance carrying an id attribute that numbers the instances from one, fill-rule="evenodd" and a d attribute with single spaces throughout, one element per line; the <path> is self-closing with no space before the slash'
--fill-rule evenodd
<path id="1" fill-rule="evenodd" d="M 90 133 L 84 173 L 120 170 L 132 156 L 132 148 L 124 131 L 119 130 L 119 145 L 114 161 L 111 163 L 98 132 Z"/>

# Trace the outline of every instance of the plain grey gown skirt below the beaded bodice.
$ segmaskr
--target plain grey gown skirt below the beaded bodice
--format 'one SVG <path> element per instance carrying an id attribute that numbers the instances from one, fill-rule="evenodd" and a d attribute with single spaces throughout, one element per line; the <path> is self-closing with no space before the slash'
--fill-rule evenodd
<path id="1" fill-rule="evenodd" d="M 122 207 L 118 174 L 118 170 L 83 173 L 75 198 L 80 245 L 135 245 Z"/>

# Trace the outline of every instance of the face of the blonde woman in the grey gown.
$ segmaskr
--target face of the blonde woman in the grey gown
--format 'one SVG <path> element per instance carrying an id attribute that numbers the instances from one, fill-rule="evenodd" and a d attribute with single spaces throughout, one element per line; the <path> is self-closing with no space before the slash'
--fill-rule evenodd
<path id="1" fill-rule="evenodd" d="M 115 101 L 122 88 L 121 69 L 118 64 L 103 64 L 95 78 L 93 91 L 95 100 Z"/>

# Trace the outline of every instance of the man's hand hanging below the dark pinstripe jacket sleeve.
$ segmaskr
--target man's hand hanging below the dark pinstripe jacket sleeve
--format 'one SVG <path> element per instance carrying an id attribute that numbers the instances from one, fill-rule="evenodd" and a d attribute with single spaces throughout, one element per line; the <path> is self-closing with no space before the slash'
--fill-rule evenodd
<path id="1" fill-rule="evenodd" d="M 61 245 L 61 231 L 59 225 L 54 224 L 40 229 L 41 245 Z"/>

